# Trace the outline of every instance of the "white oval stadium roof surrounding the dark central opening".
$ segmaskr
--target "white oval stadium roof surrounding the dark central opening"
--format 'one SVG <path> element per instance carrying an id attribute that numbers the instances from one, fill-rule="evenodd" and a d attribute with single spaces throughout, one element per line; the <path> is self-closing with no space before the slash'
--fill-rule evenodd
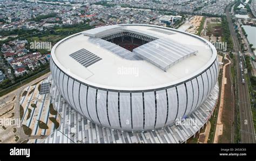
<path id="1" fill-rule="evenodd" d="M 133 52 L 101 39 L 121 32 L 152 39 Z M 72 58 L 79 50 L 85 52 Z M 174 85 L 205 71 L 217 58 L 214 46 L 201 37 L 142 24 L 104 26 L 80 32 L 59 41 L 51 54 L 55 64 L 72 78 L 116 90 Z"/>

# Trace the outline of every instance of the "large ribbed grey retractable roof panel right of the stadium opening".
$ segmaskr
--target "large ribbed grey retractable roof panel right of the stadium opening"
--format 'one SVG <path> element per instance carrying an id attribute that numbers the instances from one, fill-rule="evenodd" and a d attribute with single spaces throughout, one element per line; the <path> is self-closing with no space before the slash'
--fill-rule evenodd
<path id="1" fill-rule="evenodd" d="M 151 41 L 133 50 L 133 53 L 140 58 L 151 62 L 164 71 L 197 52 L 197 50 L 180 45 L 168 38 Z"/>

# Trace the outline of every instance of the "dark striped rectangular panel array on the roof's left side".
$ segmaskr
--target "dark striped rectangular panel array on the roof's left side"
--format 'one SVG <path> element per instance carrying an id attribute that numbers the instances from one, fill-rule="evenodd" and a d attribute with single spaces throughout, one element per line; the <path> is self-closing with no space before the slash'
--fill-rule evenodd
<path id="1" fill-rule="evenodd" d="M 86 68 L 92 64 L 95 64 L 95 62 L 102 60 L 102 58 L 98 57 L 90 51 L 87 51 L 84 48 L 70 54 L 70 57 L 75 59 L 77 62 L 79 62 L 79 64 L 83 65 Z"/>

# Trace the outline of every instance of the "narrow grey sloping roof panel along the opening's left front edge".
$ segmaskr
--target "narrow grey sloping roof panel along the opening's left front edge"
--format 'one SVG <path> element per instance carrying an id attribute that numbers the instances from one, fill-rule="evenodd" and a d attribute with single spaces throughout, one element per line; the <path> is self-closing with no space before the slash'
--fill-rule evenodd
<path id="1" fill-rule="evenodd" d="M 142 60 L 142 58 L 138 57 L 133 52 L 130 52 L 129 50 L 126 50 L 125 48 L 120 47 L 116 44 L 110 43 L 109 41 L 99 39 L 99 38 L 89 38 L 89 41 L 93 44 L 98 44 L 100 47 L 103 47 L 106 50 L 111 51 L 114 54 L 117 54 L 119 57 L 122 57 L 124 59 Z"/>

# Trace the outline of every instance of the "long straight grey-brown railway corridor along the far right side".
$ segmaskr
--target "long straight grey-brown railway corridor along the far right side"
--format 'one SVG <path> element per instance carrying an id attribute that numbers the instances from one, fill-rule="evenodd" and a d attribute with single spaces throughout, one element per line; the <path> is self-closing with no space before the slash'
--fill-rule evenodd
<path id="1" fill-rule="evenodd" d="M 234 26 L 230 16 L 230 8 L 232 4 L 229 4 L 225 10 L 227 16 L 228 26 L 230 28 L 231 36 L 233 39 L 234 52 L 235 52 L 235 60 L 236 60 L 236 68 L 237 71 L 237 89 L 238 89 L 238 106 L 240 111 L 240 134 L 241 134 L 241 143 L 255 143 L 255 135 L 254 135 L 254 127 L 252 120 L 252 111 L 250 104 L 250 97 L 248 94 L 248 86 L 247 83 L 242 85 L 242 76 L 241 69 L 239 66 L 239 52 L 241 51 L 240 44 L 237 38 L 237 34 L 234 31 Z M 244 62 L 244 59 L 241 59 Z M 245 62 L 244 62 L 245 63 Z M 242 72 L 244 74 L 244 71 Z"/>

